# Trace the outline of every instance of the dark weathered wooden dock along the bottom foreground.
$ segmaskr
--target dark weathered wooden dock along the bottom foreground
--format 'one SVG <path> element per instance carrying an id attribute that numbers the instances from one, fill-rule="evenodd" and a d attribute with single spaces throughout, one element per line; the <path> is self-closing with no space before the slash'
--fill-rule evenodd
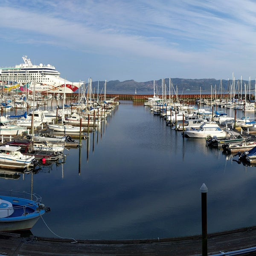
<path id="1" fill-rule="evenodd" d="M 256 246 L 256 226 L 208 235 L 208 255 Z M 7 256 L 198 256 L 201 236 L 145 240 L 73 240 L 0 233 L 0 255 Z M 256 255 L 256 252 L 239 255 Z"/>

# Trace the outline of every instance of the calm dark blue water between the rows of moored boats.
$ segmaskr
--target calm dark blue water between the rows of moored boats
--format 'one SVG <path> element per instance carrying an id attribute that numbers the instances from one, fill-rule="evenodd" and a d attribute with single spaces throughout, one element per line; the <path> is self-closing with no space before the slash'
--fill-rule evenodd
<path id="1" fill-rule="evenodd" d="M 183 138 L 147 107 L 122 101 L 66 162 L 0 186 L 38 193 L 58 236 L 153 239 L 201 233 L 202 183 L 208 232 L 256 225 L 256 169 L 227 159 L 204 139 Z M 80 153 L 80 157 L 79 157 Z M 40 219 L 35 236 L 55 237 Z"/>

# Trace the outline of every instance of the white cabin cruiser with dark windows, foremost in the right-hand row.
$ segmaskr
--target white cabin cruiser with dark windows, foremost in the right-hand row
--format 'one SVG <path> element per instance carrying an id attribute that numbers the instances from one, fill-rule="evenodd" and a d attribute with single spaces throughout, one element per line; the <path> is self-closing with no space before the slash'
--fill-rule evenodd
<path id="1" fill-rule="evenodd" d="M 185 137 L 190 138 L 206 138 L 217 137 L 218 139 L 224 139 L 227 136 L 227 132 L 223 131 L 216 122 L 204 122 L 199 129 L 188 128 L 184 131 Z"/>

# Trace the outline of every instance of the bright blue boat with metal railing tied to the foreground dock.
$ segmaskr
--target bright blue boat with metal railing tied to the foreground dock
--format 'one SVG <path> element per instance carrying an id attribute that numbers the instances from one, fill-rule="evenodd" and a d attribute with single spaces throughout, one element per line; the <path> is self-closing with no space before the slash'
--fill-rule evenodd
<path id="1" fill-rule="evenodd" d="M 0 231 L 30 230 L 49 207 L 31 192 L 0 189 Z"/>

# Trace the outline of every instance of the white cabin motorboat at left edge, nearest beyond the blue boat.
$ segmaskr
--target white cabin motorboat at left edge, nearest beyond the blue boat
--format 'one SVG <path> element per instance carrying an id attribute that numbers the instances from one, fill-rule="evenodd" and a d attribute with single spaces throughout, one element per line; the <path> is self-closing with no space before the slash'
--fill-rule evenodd
<path id="1" fill-rule="evenodd" d="M 26 169 L 38 164 L 34 156 L 26 156 L 20 152 L 19 146 L 9 144 L 0 146 L 0 168 Z"/>

